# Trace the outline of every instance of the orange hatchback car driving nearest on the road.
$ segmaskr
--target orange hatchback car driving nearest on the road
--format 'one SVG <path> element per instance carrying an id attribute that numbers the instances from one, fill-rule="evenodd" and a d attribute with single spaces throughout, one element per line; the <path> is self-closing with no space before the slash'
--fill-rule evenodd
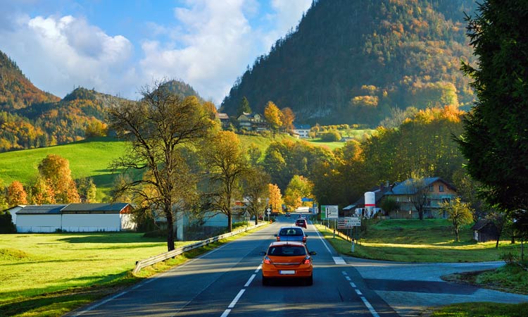
<path id="1" fill-rule="evenodd" d="M 269 285 L 271 279 L 303 278 L 306 285 L 313 284 L 312 257 L 303 242 L 272 242 L 264 253 L 262 284 Z"/>

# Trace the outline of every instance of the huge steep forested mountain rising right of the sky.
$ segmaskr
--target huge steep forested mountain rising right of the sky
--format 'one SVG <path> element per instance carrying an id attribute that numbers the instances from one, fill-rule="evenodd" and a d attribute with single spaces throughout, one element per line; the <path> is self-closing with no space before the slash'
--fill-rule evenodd
<path id="1" fill-rule="evenodd" d="M 375 126 L 391 108 L 474 99 L 460 60 L 472 61 L 464 12 L 472 0 L 314 1 L 296 30 L 239 77 L 220 111 L 243 97 L 263 113 L 273 101 L 296 122 Z"/>

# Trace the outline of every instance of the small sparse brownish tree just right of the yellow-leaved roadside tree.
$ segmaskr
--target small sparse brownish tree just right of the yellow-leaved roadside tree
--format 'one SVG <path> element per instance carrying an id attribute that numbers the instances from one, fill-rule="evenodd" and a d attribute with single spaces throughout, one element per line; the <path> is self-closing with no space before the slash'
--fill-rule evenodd
<path id="1" fill-rule="evenodd" d="M 266 209 L 269 195 L 268 183 L 270 176 L 261 168 L 249 168 L 243 178 L 244 201 L 246 211 L 250 216 L 255 217 L 255 224 L 258 224 L 258 216 Z"/>

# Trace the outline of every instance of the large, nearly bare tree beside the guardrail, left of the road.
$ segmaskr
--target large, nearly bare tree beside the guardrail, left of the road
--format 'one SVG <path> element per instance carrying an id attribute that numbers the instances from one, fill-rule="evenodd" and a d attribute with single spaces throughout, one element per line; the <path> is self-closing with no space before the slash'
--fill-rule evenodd
<path id="1" fill-rule="evenodd" d="M 108 120 L 109 128 L 128 146 L 126 154 L 111 167 L 149 175 L 121 182 L 116 194 L 132 192 L 143 206 L 142 212 L 161 211 L 167 220 L 167 248 L 171 251 L 175 249 L 173 224 L 180 211 L 175 206 L 196 190 L 186 186 L 189 175 L 181 149 L 206 137 L 215 124 L 199 99 L 182 98 L 167 84 L 154 82 L 142 89 L 138 102 L 115 104 L 108 109 Z"/>

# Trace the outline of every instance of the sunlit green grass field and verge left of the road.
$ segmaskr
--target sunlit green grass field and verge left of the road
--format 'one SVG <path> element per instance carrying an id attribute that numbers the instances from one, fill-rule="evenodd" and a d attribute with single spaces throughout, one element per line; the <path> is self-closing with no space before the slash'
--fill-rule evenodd
<path id="1" fill-rule="evenodd" d="M 63 316 L 247 234 L 187 251 L 137 275 L 132 275 L 136 261 L 167 251 L 165 240 L 132 232 L 0 235 L 0 316 Z"/>

